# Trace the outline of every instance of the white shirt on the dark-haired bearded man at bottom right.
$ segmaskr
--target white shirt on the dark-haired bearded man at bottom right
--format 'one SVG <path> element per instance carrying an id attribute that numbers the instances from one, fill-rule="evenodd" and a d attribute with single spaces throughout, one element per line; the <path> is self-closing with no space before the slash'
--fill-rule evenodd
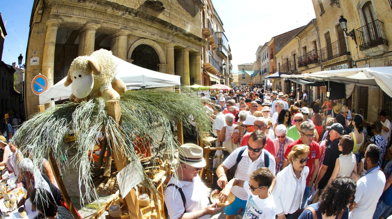
<path id="1" fill-rule="evenodd" d="M 354 200 L 357 206 L 349 213 L 348 218 L 372 218 L 378 199 L 383 194 L 385 181 L 385 175 L 378 166 L 368 170 L 363 177 L 359 178 Z"/>

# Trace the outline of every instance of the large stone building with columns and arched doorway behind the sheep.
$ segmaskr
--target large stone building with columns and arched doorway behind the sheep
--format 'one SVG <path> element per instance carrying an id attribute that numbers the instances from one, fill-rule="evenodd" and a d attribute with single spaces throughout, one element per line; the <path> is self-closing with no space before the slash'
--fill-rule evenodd
<path id="1" fill-rule="evenodd" d="M 205 34 L 207 19 L 218 18 L 211 0 L 34 0 L 25 86 L 31 86 L 32 78 L 42 73 L 50 87 L 66 76 L 74 58 L 101 48 L 135 65 L 179 75 L 182 85 L 204 84 L 202 69 L 209 63 L 208 51 L 218 49 L 219 44 L 229 49 L 228 42 L 218 41 L 215 35 L 209 40 Z M 212 23 L 224 38 L 223 24 Z M 31 58 L 39 62 L 30 65 Z M 38 96 L 30 89 L 25 95 L 31 115 L 39 104 Z"/>

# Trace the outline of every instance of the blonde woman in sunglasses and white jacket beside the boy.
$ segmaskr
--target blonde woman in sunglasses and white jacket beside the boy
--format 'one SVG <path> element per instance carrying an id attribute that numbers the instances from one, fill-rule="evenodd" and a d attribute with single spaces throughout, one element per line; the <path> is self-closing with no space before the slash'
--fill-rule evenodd
<path id="1" fill-rule="evenodd" d="M 301 207 L 303 192 L 306 187 L 306 177 L 309 168 L 306 167 L 309 147 L 295 145 L 287 157 L 290 164 L 276 175 L 276 184 L 272 192 L 276 205 L 278 219 L 291 219 Z"/>

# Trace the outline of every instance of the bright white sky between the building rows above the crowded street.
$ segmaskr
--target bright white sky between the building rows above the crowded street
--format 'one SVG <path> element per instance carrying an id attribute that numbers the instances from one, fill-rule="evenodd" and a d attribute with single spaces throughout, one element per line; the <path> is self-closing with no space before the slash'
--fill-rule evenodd
<path id="1" fill-rule="evenodd" d="M 316 18 L 312 0 L 212 0 L 237 65 L 256 61 L 260 45 Z"/>

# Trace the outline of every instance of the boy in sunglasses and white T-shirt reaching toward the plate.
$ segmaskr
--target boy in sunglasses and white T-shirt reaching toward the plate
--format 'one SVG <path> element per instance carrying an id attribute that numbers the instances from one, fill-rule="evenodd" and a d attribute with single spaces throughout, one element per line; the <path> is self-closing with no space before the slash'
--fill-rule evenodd
<path id="1" fill-rule="evenodd" d="M 274 219 L 276 206 L 272 194 L 268 188 L 274 180 L 274 174 L 267 167 L 261 167 L 253 171 L 249 181 L 232 179 L 219 194 L 221 202 L 225 202 L 233 186 L 244 188 L 248 194 L 243 218 L 268 218 Z"/>

